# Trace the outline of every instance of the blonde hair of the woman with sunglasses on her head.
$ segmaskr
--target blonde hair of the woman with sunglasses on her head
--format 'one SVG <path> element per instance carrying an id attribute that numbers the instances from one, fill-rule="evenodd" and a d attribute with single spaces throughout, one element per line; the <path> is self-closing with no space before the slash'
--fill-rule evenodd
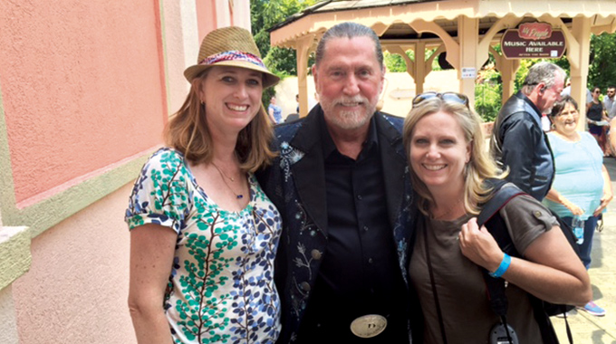
<path id="1" fill-rule="evenodd" d="M 467 213 L 477 215 L 481 210 L 478 205 L 486 203 L 491 197 L 492 186 L 484 183 L 486 178 L 502 179 L 506 173 L 499 170 L 496 162 L 489 156 L 486 150 L 486 139 L 481 129 L 482 120 L 475 111 L 468 109 L 465 104 L 445 101 L 438 97 L 419 102 L 413 106 L 404 120 L 403 139 L 407 156 L 410 160 L 411 139 L 419 119 L 438 111 L 452 115 L 464 132 L 466 142 L 470 142 L 470 159 L 464 169 L 464 207 Z M 434 204 L 434 198 L 428 186 L 419 179 L 412 167 L 410 176 L 413 188 L 419 196 L 419 210 L 424 215 L 428 215 L 430 206 Z"/>

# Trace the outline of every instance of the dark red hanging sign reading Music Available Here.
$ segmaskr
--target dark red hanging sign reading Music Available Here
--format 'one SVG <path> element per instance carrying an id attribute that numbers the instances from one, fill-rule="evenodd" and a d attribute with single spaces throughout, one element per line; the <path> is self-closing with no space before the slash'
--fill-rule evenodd
<path id="1" fill-rule="evenodd" d="M 521 24 L 518 29 L 505 31 L 501 39 L 507 59 L 554 59 L 563 56 L 565 48 L 563 31 L 545 23 Z"/>

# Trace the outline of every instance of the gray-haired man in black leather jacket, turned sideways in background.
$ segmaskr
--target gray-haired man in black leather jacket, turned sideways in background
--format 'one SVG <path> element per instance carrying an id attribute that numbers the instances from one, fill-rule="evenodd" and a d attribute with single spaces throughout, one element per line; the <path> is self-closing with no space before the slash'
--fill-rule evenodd
<path id="1" fill-rule="evenodd" d="M 503 167 L 506 179 L 541 201 L 553 179 L 553 159 L 541 117 L 552 110 L 563 91 L 565 72 L 550 62 L 534 64 L 522 90 L 511 96 L 496 117 L 490 153 Z"/>

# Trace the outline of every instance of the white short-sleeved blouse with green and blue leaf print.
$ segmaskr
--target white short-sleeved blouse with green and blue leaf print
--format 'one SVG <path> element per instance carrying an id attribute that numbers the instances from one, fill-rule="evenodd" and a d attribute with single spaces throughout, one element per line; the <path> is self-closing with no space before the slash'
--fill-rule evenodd
<path id="1" fill-rule="evenodd" d="M 162 307 L 175 343 L 274 343 L 280 299 L 274 256 L 281 218 L 252 174 L 250 202 L 220 209 L 197 185 L 184 157 L 161 148 L 141 170 L 126 211 L 129 228 L 178 233 Z"/>

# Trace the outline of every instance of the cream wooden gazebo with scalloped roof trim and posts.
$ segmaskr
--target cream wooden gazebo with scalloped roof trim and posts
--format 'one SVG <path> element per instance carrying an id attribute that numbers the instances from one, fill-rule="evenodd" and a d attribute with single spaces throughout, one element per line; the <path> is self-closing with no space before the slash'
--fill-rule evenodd
<path id="1" fill-rule="evenodd" d="M 502 72 L 504 99 L 513 92 L 513 79 L 519 65 L 492 49 L 508 28 L 526 22 L 544 22 L 562 29 L 572 66 L 572 95 L 585 96 L 591 33 L 616 31 L 616 1 L 613 0 L 342 0 L 322 1 L 302 13 L 288 17 L 270 29 L 272 45 L 297 50 L 300 104 L 307 104 L 305 78 L 308 54 L 328 28 L 352 21 L 370 26 L 380 36 L 383 49 L 390 53 L 438 47 L 425 61 L 407 60 L 409 74 L 422 90 L 436 54 L 447 52 L 448 62 L 458 70 L 459 91 L 471 92 L 475 81 L 461 78 L 461 68 L 477 70 L 488 53 L 496 57 Z M 422 57 L 422 53 L 415 56 Z M 404 56 L 403 56 L 404 57 Z M 406 59 L 406 58 L 405 58 Z M 307 106 L 306 106 L 307 107 Z"/>

